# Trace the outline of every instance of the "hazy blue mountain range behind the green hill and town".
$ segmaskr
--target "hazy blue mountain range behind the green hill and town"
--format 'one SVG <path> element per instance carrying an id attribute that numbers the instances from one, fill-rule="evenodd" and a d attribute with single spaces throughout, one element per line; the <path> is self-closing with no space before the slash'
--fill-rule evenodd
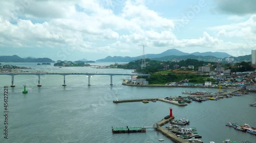
<path id="1" fill-rule="evenodd" d="M 158 54 L 145 54 L 145 58 L 148 59 L 157 59 L 157 58 L 162 58 L 164 56 L 184 56 L 184 55 L 195 55 L 195 56 L 214 56 L 215 58 L 219 58 L 219 59 L 223 59 L 223 58 L 227 58 L 230 57 L 232 55 L 226 53 L 226 52 L 193 52 L 193 53 L 186 53 L 186 52 L 182 52 L 179 51 L 177 49 L 168 49 L 162 53 L 158 53 Z M 131 57 L 131 56 L 107 56 L 104 59 L 99 59 L 97 60 L 97 62 L 131 62 L 134 60 L 139 60 L 142 58 L 142 55 L 140 56 L 135 56 L 135 57 Z M 177 58 L 177 57 L 176 57 Z"/>

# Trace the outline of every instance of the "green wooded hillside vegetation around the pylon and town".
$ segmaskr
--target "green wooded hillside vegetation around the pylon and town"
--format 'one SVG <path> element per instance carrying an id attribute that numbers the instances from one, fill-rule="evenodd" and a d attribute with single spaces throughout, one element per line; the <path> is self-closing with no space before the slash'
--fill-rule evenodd
<path id="1" fill-rule="evenodd" d="M 181 60 L 180 62 L 170 62 L 170 61 L 155 61 L 146 59 L 146 67 L 141 69 L 141 60 L 130 62 L 124 65 L 113 65 L 114 68 L 123 69 L 135 69 L 139 73 L 150 73 L 150 77 L 138 77 L 146 78 L 150 84 L 165 84 L 168 82 L 190 82 L 190 83 L 204 83 L 205 81 L 212 81 L 216 83 L 217 80 L 210 78 L 206 74 L 195 74 L 195 71 L 199 67 L 204 65 L 211 65 L 211 71 L 216 68 L 216 63 L 198 61 L 194 59 Z M 181 69 L 181 67 L 194 66 L 193 69 Z M 230 69 L 231 72 L 243 72 L 243 71 L 253 71 L 250 62 L 241 62 L 234 65 L 224 64 L 222 67 L 225 70 Z"/>

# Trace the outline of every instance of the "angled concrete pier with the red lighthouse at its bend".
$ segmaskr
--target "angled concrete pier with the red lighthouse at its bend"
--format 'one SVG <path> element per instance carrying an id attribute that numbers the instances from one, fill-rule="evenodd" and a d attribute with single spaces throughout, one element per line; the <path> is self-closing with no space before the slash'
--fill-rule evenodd
<path id="1" fill-rule="evenodd" d="M 163 126 L 164 124 L 168 123 L 169 121 L 173 120 L 174 117 L 171 117 L 169 119 L 163 119 L 161 121 L 159 121 L 158 123 L 154 124 L 154 127 L 157 128 L 158 131 L 160 131 L 162 134 L 164 134 L 165 136 L 167 136 L 168 138 L 172 139 L 175 142 L 179 142 L 179 143 L 189 143 L 187 140 L 178 137 L 177 135 L 173 134 L 172 132 L 169 132 L 168 130 L 164 129 Z"/>

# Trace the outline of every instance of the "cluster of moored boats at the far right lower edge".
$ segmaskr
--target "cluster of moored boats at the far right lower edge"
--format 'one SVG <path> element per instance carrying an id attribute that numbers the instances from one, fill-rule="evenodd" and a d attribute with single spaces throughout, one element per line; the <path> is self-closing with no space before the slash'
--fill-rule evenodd
<path id="1" fill-rule="evenodd" d="M 226 126 L 233 127 L 240 131 L 246 131 L 248 133 L 256 135 L 256 128 L 251 127 L 249 124 L 239 125 L 236 122 L 226 123 Z"/>

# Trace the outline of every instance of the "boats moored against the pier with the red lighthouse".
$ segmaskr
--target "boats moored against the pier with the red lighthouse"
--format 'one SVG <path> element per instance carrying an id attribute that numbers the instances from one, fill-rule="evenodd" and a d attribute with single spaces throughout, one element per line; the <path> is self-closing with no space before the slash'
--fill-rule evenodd
<path id="1" fill-rule="evenodd" d="M 192 128 L 185 128 L 185 127 L 179 127 L 178 125 L 185 126 L 189 124 L 189 120 L 186 120 L 184 118 L 179 119 L 179 120 L 172 120 L 172 124 L 169 124 L 169 126 L 166 127 L 166 129 L 170 132 L 173 132 L 176 134 L 178 137 L 181 137 L 183 139 L 187 139 L 189 142 L 200 142 L 202 143 L 203 141 L 198 139 L 202 138 L 201 135 L 199 135 L 196 131 L 196 127 Z M 177 124 L 177 125 L 174 125 Z"/>

